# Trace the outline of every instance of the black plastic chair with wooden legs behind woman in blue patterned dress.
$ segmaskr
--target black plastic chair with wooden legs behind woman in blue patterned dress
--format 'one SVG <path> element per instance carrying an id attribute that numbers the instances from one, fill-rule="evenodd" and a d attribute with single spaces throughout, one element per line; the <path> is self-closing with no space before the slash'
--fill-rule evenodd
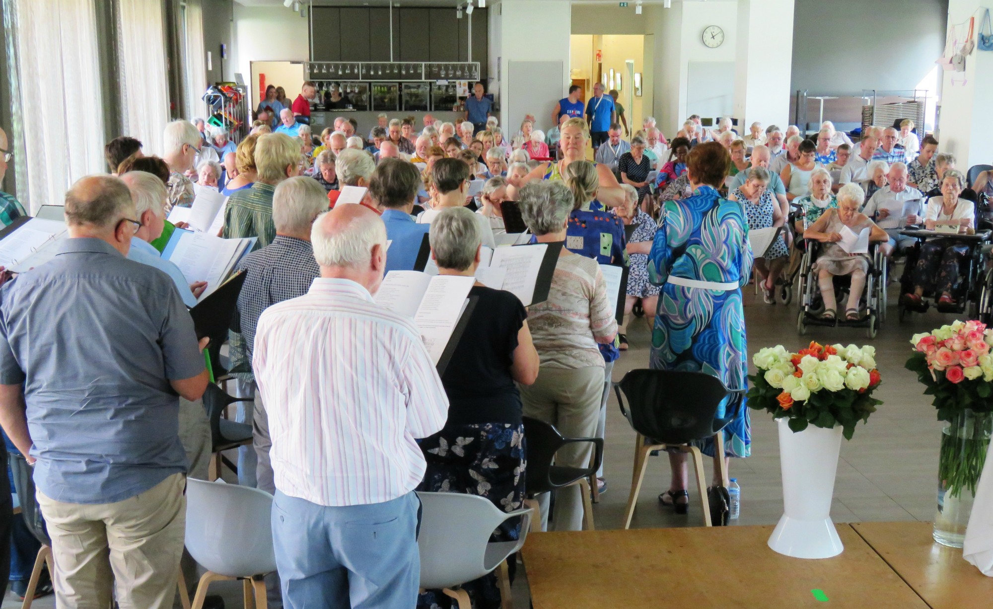
<path id="1" fill-rule="evenodd" d="M 617 391 L 621 412 L 638 432 L 635 440 L 635 469 L 624 528 L 631 527 L 631 519 L 635 515 L 641 481 L 644 480 L 644 470 L 648 465 L 648 453 L 664 448 L 676 448 L 693 456 L 703 520 L 710 527 L 703 455 L 690 442 L 713 436 L 714 467 L 720 473 L 724 486 L 727 486 L 723 429 L 738 415 L 745 389 L 729 389 L 720 379 L 706 373 L 641 369 L 629 372 L 620 382 L 614 383 L 614 390 Z M 625 395 L 628 397 L 627 408 Z M 717 418 L 718 407 L 729 395 L 732 399 L 725 407 L 724 417 Z"/>

